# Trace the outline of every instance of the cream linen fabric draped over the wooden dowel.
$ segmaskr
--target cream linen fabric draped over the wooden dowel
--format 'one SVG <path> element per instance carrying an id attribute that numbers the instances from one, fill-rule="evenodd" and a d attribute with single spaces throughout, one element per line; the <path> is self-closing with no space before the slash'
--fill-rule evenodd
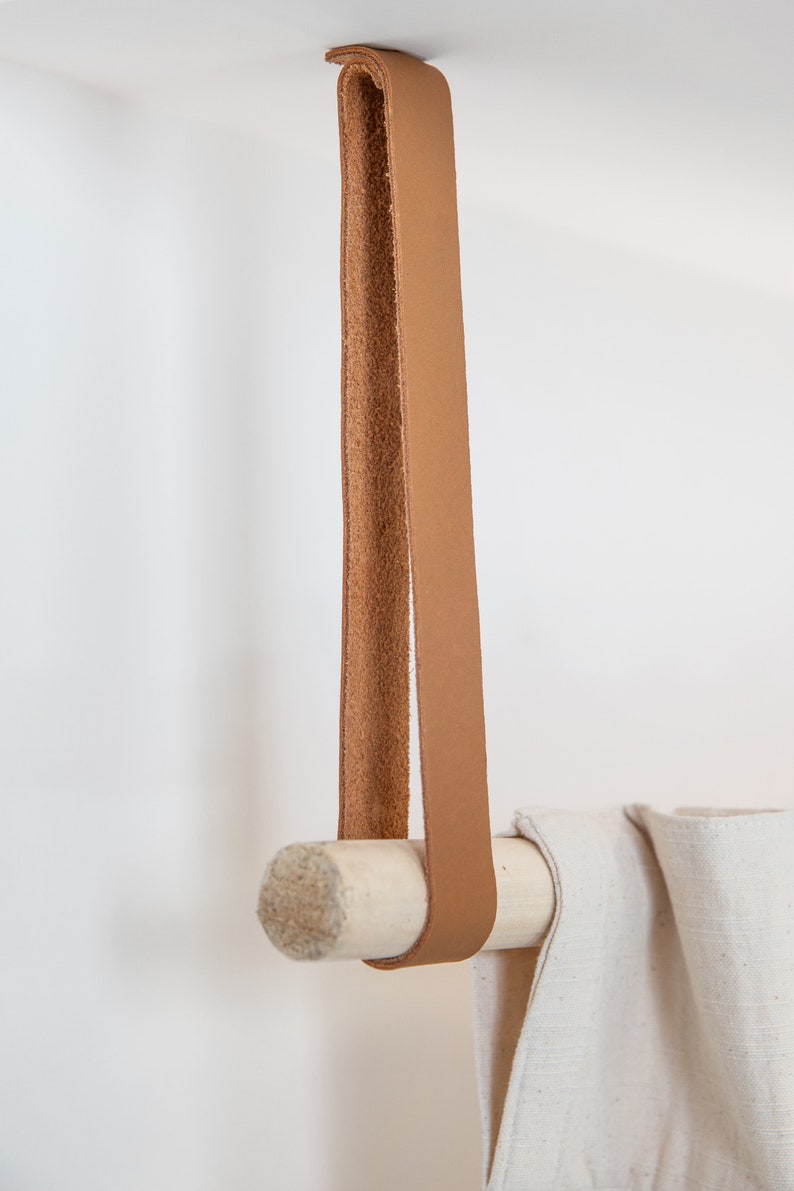
<path id="1" fill-rule="evenodd" d="M 794 1191 L 794 811 L 514 827 L 556 910 L 473 962 L 488 1191 Z"/>

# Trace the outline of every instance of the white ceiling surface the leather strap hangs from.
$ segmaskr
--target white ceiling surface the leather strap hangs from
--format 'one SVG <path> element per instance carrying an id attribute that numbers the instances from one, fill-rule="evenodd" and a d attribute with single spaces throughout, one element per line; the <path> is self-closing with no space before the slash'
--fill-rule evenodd
<path id="1" fill-rule="evenodd" d="M 461 201 L 794 295 L 790 0 L 5 0 L 0 55 L 336 155 L 325 49 L 433 61 Z"/>

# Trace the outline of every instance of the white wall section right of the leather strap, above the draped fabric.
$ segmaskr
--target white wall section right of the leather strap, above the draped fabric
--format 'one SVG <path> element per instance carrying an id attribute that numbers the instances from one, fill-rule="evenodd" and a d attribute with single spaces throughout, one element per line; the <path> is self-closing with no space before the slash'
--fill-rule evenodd
<path id="1" fill-rule="evenodd" d="M 462 233 L 495 822 L 790 802 L 794 303 Z"/>

